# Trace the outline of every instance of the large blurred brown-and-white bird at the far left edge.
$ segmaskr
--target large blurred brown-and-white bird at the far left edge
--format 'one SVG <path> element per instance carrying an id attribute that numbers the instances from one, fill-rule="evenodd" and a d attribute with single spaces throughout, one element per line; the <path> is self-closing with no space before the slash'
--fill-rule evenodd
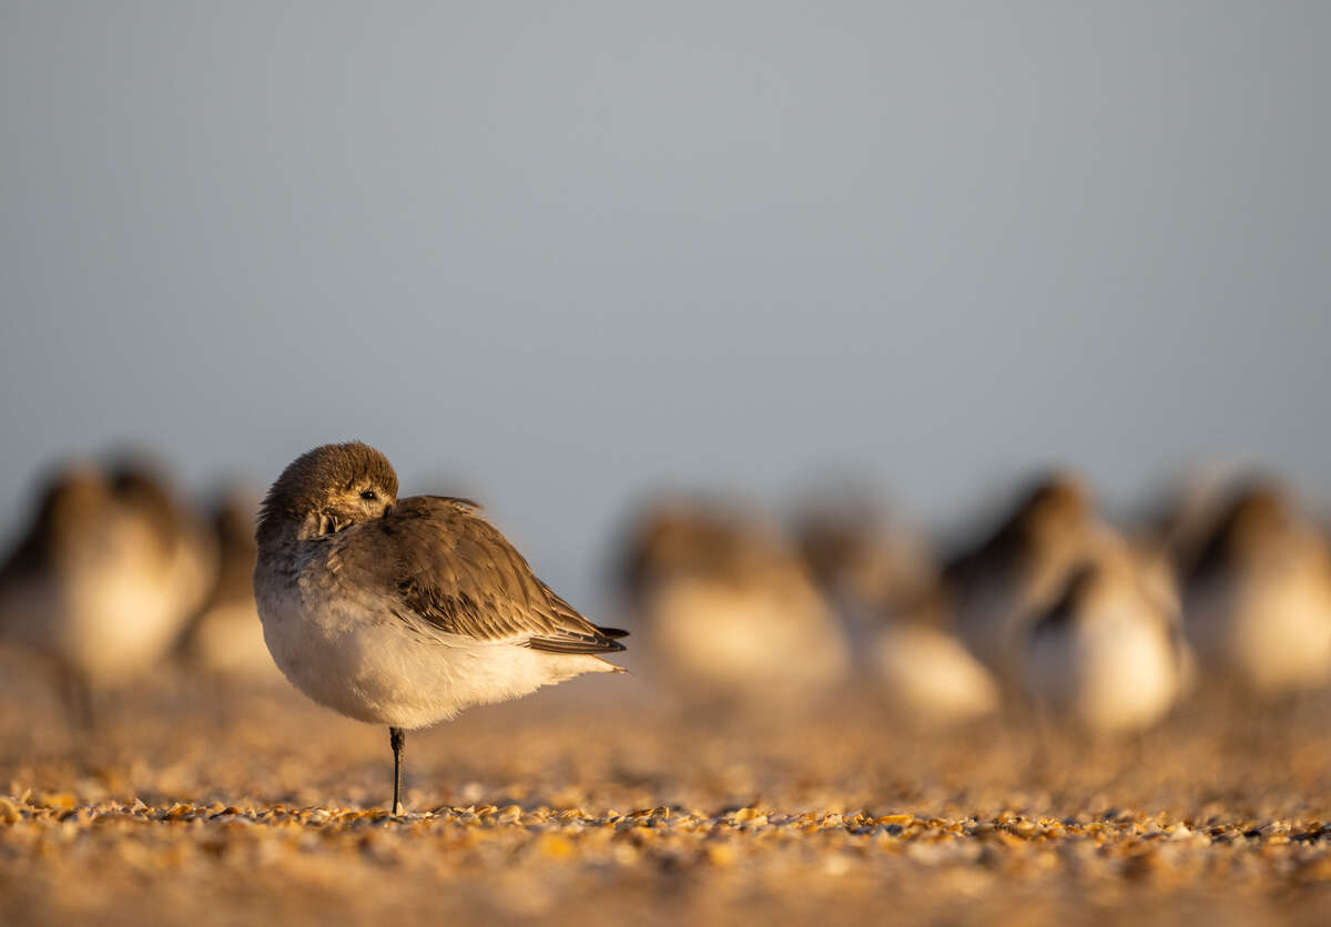
<path id="1" fill-rule="evenodd" d="M 56 668 L 71 721 L 176 642 L 210 557 L 169 481 L 141 463 L 55 467 L 0 567 L 0 636 Z"/>

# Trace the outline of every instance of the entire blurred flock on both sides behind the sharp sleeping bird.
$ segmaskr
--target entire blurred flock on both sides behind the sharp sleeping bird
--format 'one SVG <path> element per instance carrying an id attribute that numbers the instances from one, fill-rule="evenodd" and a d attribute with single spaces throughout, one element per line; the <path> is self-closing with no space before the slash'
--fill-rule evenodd
<path id="1" fill-rule="evenodd" d="M 202 515 L 141 460 L 52 471 L 0 567 L 0 642 L 49 664 L 85 724 L 89 693 L 169 660 L 278 678 L 252 584 L 258 508 L 236 491 Z M 946 560 L 862 493 L 785 523 L 663 497 L 615 551 L 643 669 L 704 704 L 777 712 L 857 681 L 929 724 L 1010 709 L 1115 734 L 1207 685 L 1279 702 L 1331 681 L 1331 545 L 1270 479 L 1115 527 L 1085 481 L 1045 475 Z"/>

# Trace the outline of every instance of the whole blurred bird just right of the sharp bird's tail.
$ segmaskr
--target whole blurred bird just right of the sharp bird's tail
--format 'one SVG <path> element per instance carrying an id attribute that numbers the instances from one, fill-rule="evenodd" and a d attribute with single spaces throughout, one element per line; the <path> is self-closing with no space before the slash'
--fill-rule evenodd
<path id="1" fill-rule="evenodd" d="M 659 497 L 631 519 L 618 572 L 658 678 L 685 701 L 764 708 L 828 690 L 845 633 L 780 525 L 725 499 Z"/>

